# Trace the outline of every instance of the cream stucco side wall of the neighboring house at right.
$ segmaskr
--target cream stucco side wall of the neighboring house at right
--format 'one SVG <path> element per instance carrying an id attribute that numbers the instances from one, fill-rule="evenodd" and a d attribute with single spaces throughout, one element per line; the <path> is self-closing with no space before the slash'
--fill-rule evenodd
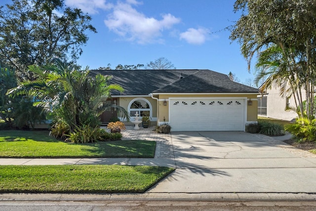
<path id="1" fill-rule="evenodd" d="M 303 93 L 305 100 L 305 93 Z M 290 97 L 290 107 L 296 107 L 294 97 Z M 267 117 L 292 121 L 295 120 L 297 114 L 286 109 L 286 97 L 281 97 L 279 88 L 272 87 L 267 90 Z"/>

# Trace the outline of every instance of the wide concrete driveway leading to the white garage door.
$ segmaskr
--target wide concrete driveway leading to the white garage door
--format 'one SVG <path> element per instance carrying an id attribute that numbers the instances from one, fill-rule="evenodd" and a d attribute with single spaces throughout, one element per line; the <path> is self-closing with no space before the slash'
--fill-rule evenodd
<path id="1" fill-rule="evenodd" d="M 177 169 L 148 192 L 315 193 L 316 155 L 245 132 L 172 132 Z"/>

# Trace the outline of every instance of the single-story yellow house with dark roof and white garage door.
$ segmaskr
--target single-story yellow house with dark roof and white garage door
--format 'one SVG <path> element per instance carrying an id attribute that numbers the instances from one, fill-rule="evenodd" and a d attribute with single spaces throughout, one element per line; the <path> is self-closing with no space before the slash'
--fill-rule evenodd
<path id="1" fill-rule="evenodd" d="M 210 70 L 91 71 L 113 75 L 112 100 L 130 116 L 150 116 L 172 131 L 244 131 L 257 121 L 258 89 Z M 105 117 L 103 117 L 105 119 Z M 122 120 L 124 121 L 124 120 Z"/>

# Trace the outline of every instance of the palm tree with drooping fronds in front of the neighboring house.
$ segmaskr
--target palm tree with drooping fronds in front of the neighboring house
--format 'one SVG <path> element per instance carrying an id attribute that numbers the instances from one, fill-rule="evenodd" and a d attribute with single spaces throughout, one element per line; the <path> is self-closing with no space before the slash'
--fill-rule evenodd
<path id="1" fill-rule="evenodd" d="M 256 68 L 258 73 L 255 82 L 268 78 L 261 86 L 261 92 L 272 85 L 280 87 L 281 96 L 293 96 L 296 104 L 295 110 L 299 117 L 303 117 L 302 90 L 305 85 L 304 66 L 297 59 L 295 49 L 281 48 L 272 44 L 258 54 Z M 298 109 L 298 110 L 297 110 Z"/>

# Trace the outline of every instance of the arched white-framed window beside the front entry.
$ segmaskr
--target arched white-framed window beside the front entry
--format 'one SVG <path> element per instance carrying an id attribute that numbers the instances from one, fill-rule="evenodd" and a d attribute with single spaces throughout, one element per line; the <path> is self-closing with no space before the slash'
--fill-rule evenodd
<path id="1" fill-rule="evenodd" d="M 152 106 L 150 102 L 144 98 L 137 98 L 130 102 L 128 107 L 128 112 L 130 113 L 131 117 L 135 117 L 136 112 L 139 114 L 140 117 L 142 116 L 149 116 L 151 117 L 151 110 Z"/>

